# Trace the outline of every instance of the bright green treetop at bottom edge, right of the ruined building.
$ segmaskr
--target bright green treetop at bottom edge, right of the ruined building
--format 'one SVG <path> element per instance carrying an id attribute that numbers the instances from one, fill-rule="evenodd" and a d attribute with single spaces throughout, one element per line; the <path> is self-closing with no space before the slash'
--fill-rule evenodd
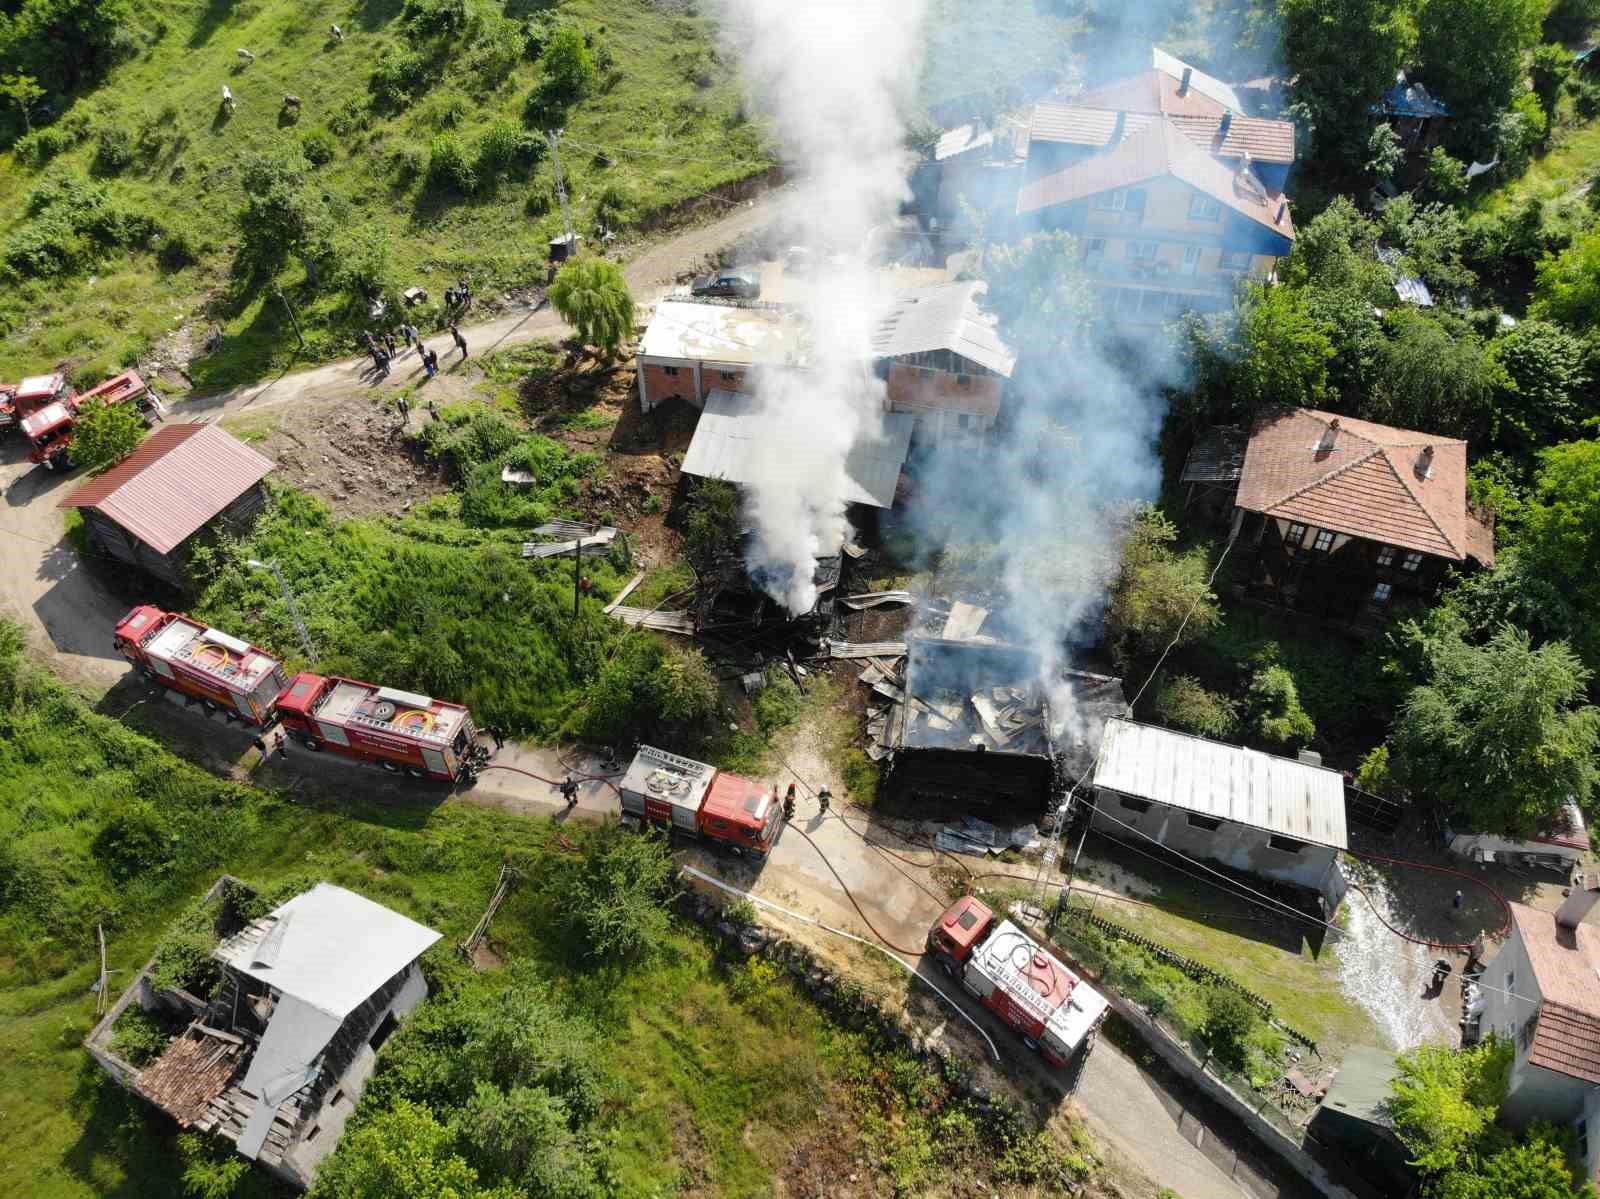
<path id="1" fill-rule="evenodd" d="M 454 1135 L 427 1108 L 398 1100 L 346 1130 L 317 1170 L 312 1199 L 512 1199 L 478 1186 Z"/>

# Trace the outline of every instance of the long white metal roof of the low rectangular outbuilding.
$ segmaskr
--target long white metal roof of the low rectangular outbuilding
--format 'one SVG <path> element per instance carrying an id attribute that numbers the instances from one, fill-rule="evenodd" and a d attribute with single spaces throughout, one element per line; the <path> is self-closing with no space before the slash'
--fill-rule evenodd
<path id="1" fill-rule="evenodd" d="M 1094 786 L 1349 848 L 1344 778 L 1277 754 L 1112 719 L 1106 722 Z"/>

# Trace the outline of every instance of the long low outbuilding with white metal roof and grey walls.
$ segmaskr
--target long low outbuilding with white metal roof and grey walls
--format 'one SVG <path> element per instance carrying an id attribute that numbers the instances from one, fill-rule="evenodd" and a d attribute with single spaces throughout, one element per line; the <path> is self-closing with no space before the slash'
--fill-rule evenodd
<path id="1" fill-rule="evenodd" d="M 1333 914 L 1349 848 L 1336 770 L 1112 719 L 1094 764 L 1094 829 L 1315 892 Z"/>

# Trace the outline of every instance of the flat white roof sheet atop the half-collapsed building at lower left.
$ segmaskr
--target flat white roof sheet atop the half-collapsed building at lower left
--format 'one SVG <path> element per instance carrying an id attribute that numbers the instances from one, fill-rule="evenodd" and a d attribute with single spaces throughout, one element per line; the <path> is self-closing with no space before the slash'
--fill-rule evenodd
<path id="1" fill-rule="evenodd" d="M 336 1020 L 438 940 L 432 928 L 326 882 L 301 892 L 269 919 L 272 928 L 229 938 L 216 956 Z"/>

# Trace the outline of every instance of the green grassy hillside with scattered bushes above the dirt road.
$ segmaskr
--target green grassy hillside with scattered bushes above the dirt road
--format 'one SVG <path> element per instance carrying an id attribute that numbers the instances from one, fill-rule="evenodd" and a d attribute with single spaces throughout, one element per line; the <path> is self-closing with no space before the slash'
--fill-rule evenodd
<path id="1" fill-rule="evenodd" d="M 462 274 L 480 295 L 542 280 L 560 226 L 538 136 L 547 123 L 565 125 L 562 165 L 584 234 L 602 202 L 626 234 L 765 166 L 734 70 L 691 5 L 171 0 L 142 13 L 134 56 L 90 94 L 50 96 L 61 115 L 0 154 L 0 378 L 66 363 L 98 379 L 182 325 L 198 341 L 221 333 L 197 386 L 258 378 L 294 347 L 272 282 L 299 307 L 312 357 L 347 352 L 363 306 L 330 279 L 336 271 L 320 271 L 315 288 L 298 261 L 275 280 L 230 277 L 242 176 L 259 152 L 304 147 L 307 192 L 344 258 L 365 263 L 382 243 L 389 282 L 434 299 Z M 587 38 L 595 77 L 576 101 L 549 102 L 546 58 L 563 26 Z M 470 190 L 448 171 L 430 181 L 440 138 L 478 166 Z M 59 190 L 62 179 L 69 200 L 43 203 L 56 192 L 40 184 Z M 104 195 L 83 198 L 93 184 Z M 42 224 L 78 213 L 66 271 L 18 267 L 13 248 L 34 248 Z"/>

